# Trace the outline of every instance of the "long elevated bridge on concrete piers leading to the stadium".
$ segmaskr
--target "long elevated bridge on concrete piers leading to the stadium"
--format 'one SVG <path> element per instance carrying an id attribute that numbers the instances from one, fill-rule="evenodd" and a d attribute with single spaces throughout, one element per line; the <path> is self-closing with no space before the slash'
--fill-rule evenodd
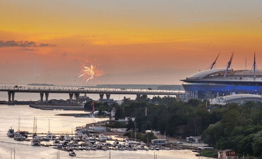
<path id="1" fill-rule="evenodd" d="M 40 102 L 43 103 L 45 93 L 45 102 L 48 103 L 49 93 L 68 93 L 70 102 L 72 102 L 73 94 L 76 97 L 76 103 L 79 101 L 80 93 L 86 94 L 99 94 L 100 101 L 103 101 L 104 94 L 107 101 L 110 99 L 111 94 L 126 94 L 126 95 L 183 95 L 184 92 L 176 90 L 162 90 L 162 89 L 136 89 L 136 88 L 98 88 L 98 87 L 74 87 L 74 86 L 13 86 L 6 85 L 0 86 L 0 91 L 8 93 L 8 102 L 14 102 L 15 92 L 21 93 L 40 93 Z"/>

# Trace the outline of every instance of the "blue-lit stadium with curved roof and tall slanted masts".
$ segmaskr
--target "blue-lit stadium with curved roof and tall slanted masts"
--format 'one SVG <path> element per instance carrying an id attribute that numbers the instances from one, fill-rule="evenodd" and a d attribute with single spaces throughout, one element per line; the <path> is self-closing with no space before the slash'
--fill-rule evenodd
<path id="1" fill-rule="evenodd" d="M 262 94 L 262 70 L 258 70 L 254 55 L 251 70 L 233 70 L 230 68 L 232 58 L 225 68 L 214 68 L 216 60 L 208 70 L 197 72 L 180 80 L 185 89 L 186 100 L 212 99 L 235 94 Z"/>

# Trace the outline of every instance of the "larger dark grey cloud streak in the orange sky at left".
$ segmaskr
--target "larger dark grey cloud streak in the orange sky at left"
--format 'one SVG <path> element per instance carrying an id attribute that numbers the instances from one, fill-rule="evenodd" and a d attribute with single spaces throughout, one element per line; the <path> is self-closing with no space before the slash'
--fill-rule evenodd
<path id="1" fill-rule="evenodd" d="M 17 44 L 17 45 L 12 45 Z M 44 44 L 40 43 L 37 45 L 34 41 L 1 41 L 0 40 L 0 47 L 45 47 L 45 46 L 56 46 L 55 44 Z M 28 50 L 27 50 L 28 51 Z"/>

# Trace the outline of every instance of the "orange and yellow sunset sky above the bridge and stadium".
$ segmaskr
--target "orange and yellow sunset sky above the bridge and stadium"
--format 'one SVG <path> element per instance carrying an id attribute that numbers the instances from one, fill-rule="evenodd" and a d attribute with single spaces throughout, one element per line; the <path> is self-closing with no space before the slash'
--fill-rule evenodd
<path id="1" fill-rule="evenodd" d="M 3 1 L 0 83 L 182 84 L 217 54 L 262 69 L 262 1 Z M 10 44 L 18 44 L 12 45 Z M 77 78 L 99 62 L 101 83 Z"/>

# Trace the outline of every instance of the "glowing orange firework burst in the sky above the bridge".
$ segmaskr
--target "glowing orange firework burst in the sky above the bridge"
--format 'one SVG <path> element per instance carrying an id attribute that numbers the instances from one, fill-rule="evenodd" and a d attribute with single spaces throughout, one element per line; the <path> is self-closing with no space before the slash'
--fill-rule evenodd
<path id="1" fill-rule="evenodd" d="M 99 65 L 100 64 L 96 63 L 96 60 L 95 61 L 86 60 L 85 64 L 82 63 L 82 65 L 80 66 L 81 70 L 80 70 L 78 78 L 83 77 L 83 81 L 86 81 L 86 82 L 88 80 L 91 80 L 91 82 L 93 80 L 99 81 L 96 79 L 96 77 L 99 77 L 105 73 L 103 70 L 100 70 L 98 68 Z"/>

